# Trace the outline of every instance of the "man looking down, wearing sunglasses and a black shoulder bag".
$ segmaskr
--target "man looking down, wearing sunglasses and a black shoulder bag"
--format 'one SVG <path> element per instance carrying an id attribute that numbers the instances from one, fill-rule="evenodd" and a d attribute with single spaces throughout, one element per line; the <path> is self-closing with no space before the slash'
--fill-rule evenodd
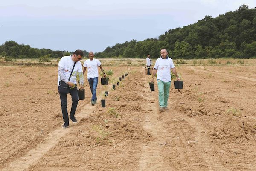
<path id="1" fill-rule="evenodd" d="M 83 88 L 84 77 L 82 64 L 80 60 L 83 58 L 84 53 L 81 50 L 76 50 L 73 55 L 63 56 L 58 63 L 58 89 L 60 89 L 61 84 L 68 84 L 70 87 L 70 95 L 72 98 L 72 107 L 70 111 L 70 119 L 73 123 L 76 123 L 75 118 L 76 107 L 78 104 L 78 93 L 76 87 L 76 78 L 79 77 L 80 87 Z M 72 72 L 72 73 L 71 73 Z M 63 82 L 64 81 L 64 82 Z M 59 91 L 60 92 L 60 91 Z M 64 120 L 62 128 L 67 128 L 69 126 L 68 112 L 67 112 L 67 93 L 59 93 L 61 98 L 61 110 Z"/>

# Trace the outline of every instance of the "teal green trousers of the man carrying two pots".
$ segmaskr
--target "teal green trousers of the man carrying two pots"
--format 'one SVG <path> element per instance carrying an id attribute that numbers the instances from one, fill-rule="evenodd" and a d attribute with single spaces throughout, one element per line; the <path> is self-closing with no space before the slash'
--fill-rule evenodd
<path id="1" fill-rule="evenodd" d="M 161 80 L 157 80 L 157 87 L 158 87 L 159 107 L 167 107 L 171 81 L 163 82 Z"/>

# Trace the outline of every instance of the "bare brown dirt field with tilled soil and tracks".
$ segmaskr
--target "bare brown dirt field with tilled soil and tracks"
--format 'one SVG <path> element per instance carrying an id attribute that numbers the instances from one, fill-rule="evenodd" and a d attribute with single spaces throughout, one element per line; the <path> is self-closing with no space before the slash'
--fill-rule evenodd
<path id="1" fill-rule="evenodd" d="M 176 65 L 182 94 L 172 83 L 163 113 L 143 66 L 103 65 L 112 80 L 129 74 L 116 90 L 99 80 L 95 106 L 85 80 L 67 129 L 57 66 L 0 66 L 0 170 L 256 171 L 255 64 Z"/>

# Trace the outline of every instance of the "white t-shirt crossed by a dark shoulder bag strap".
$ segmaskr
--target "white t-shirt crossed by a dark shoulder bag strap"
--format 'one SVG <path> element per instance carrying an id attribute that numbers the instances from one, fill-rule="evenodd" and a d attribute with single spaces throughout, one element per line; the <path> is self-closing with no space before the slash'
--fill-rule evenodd
<path id="1" fill-rule="evenodd" d="M 64 68 L 64 74 L 65 74 L 65 77 L 66 77 L 66 81 L 68 81 L 68 78 L 70 77 L 70 73 L 73 69 L 74 63 L 75 62 L 72 60 L 71 55 L 70 56 L 63 56 L 61 58 L 61 60 L 59 61 L 59 63 L 58 63 L 59 67 Z M 74 67 L 74 70 L 73 70 L 71 78 L 70 78 L 70 82 L 72 82 L 74 84 L 76 84 L 77 72 L 80 72 L 80 73 L 83 72 L 82 64 L 81 64 L 80 61 L 76 62 L 76 65 Z M 58 75 L 58 85 L 59 85 L 60 80 L 61 80 L 61 78 Z M 63 81 L 65 81 L 65 80 L 63 80 Z"/>

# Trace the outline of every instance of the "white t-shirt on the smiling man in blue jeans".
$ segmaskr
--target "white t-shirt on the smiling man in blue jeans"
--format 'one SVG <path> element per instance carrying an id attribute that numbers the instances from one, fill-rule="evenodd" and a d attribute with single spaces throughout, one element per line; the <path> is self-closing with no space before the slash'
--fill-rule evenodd
<path id="1" fill-rule="evenodd" d="M 84 67 L 87 67 L 87 78 L 95 78 L 99 77 L 98 73 L 98 67 L 101 65 L 100 61 L 98 59 L 87 59 L 84 61 Z"/>

